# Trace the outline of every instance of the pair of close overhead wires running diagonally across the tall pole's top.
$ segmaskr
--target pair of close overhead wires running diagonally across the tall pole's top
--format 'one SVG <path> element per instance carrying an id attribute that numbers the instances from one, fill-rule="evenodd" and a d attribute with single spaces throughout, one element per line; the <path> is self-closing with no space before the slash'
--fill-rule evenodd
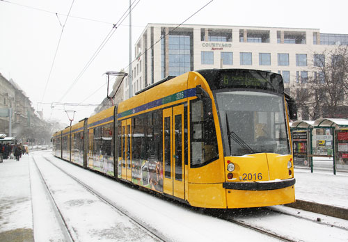
<path id="1" fill-rule="evenodd" d="M 137 1 L 137 2 L 136 2 Z M 84 74 L 84 72 L 86 72 L 86 70 L 88 69 L 88 67 L 90 66 L 90 64 L 93 63 L 93 61 L 95 60 L 95 58 L 97 57 L 98 54 L 100 54 L 100 51 L 102 51 L 102 49 L 104 48 L 104 46 L 106 45 L 106 43 L 110 40 L 111 36 L 113 35 L 113 33 L 115 33 L 116 29 L 118 29 L 118 26 L 120 24 L 122 24 L 123 21 L 125 21 L 126 17 L 129 15 L 129 12 L 131 12 L 136 5 L 138 5 L 139 1 L 141 0 L 134 0 L 131 3 L 131 6 L 129 8 L 127 8 L 127 10 L 125 11 L 125 13 L 123 13 L 122 17 L 120 17 L 120 19 L 118 20 L 118 22 L 116 22 L 116 24 L 113 24 L 113 27 L 111 29 L 111 31 L 109 31 L 109 33 L 106 35 L 106 37 L 104 38 L 104 40 L 102 41 L 102 43 L 100 44 L 100 46 L 97 48 L 97 50 L 95 51 L 95 53 L 93 54 L 93 56 L 89 59 L 89 61 L 86 63 L 86 65 L 84 66 L 84 68 L 81 70 L 81 72 L 77 75 L 77 78 L 72 82 L 72 84 L 70 85 L 70 87 L 68 88 L 68 90 L 65 91 L 65 93 L 63 94 L 63 96 L 61 97 L 61 99 L 58 100 L 58 102 L 61 102 L 61 100 L 68 94 L 68 92 L 70 92 L 70 90 L 72 89 L 72 87 L 77 83 L 77 81 L 79 81 L 79 79 L 81 78 L 81 76 Z M 134 5 L 134 2 L 135 5 Z"/>

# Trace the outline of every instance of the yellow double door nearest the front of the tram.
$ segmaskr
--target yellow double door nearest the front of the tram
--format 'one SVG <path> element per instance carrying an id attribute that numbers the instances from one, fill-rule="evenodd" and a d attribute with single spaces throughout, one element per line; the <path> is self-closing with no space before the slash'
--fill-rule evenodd
<path id="1" fill-rule="evenodd" d="M 164 193 L 184 199 L 184 105 L 163 111 Z"/>

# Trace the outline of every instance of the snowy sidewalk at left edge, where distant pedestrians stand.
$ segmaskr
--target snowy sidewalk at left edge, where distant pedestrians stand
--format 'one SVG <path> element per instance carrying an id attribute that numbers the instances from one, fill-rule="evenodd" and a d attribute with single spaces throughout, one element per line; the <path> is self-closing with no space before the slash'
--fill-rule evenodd
<path id="1" fill-rule="evenodd" d="M 34 241 L 29 155 L 3 160 L 0 184 L 0 241 Z"/>

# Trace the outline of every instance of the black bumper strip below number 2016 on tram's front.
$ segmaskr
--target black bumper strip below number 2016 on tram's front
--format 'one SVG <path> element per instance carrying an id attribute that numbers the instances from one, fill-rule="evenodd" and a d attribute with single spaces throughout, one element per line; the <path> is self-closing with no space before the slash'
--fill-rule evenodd
<path id="1" fill-rule="evenodd" d="M 296 179 L 292 178 L 279 181 L 223 182 L 222 186 L 232 190 L 265 191 L 293 186 L 295 182 Z"/>

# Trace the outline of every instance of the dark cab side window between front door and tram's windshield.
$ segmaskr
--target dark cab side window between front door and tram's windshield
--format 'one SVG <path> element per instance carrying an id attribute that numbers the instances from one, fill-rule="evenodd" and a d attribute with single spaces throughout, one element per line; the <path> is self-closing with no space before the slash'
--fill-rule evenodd
<path id="1" fill-rule="evenodd" d="M 205 118 L 204 104 L 202 100 L 191 101 L 191 168 L 219 158 L 214 118 Z"/>

